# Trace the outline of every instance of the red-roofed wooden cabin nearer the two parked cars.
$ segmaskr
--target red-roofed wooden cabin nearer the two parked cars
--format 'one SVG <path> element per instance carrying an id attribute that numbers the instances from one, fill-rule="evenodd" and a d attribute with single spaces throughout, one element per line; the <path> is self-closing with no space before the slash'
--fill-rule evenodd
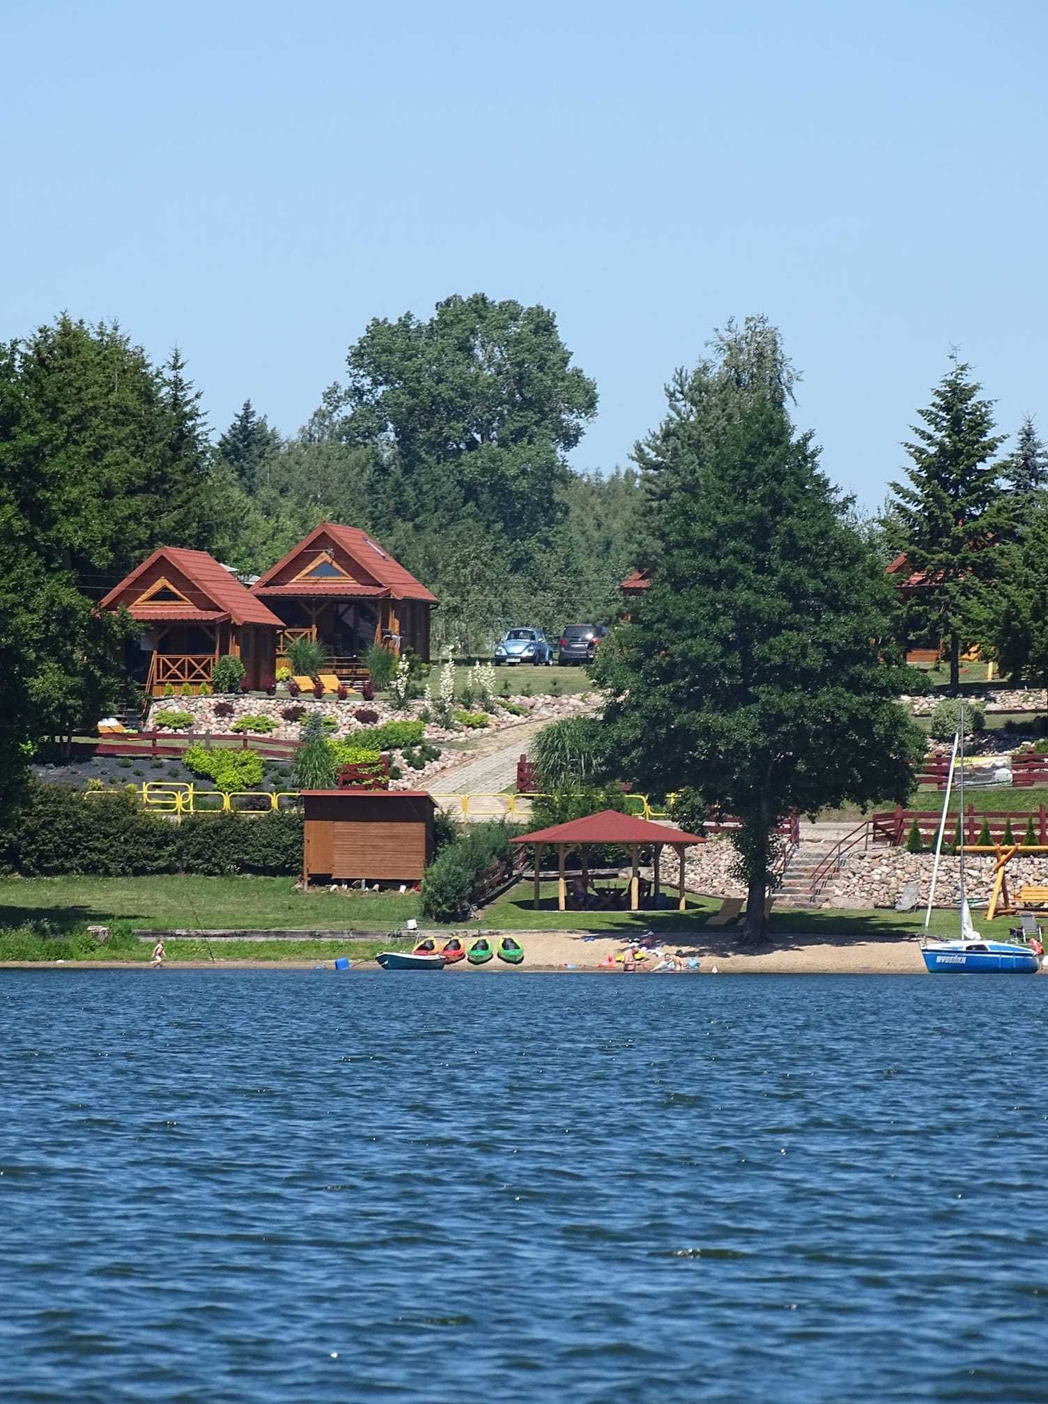
<path id="1" fill-rule="evenodd" d="M 320 522 L 258 577 L 251 594 L 280 615 L 278 665 L 287 646 L 303 637 L 325 647 L 343 681 L 367 674 L 364 653 L 372 643 L 430 660 L 437 597 L 358 526 Z"/>

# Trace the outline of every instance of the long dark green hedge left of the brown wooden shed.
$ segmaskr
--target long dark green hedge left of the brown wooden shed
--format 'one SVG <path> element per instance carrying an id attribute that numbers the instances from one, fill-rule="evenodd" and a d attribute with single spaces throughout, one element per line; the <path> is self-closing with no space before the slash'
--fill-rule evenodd
<path id="1" fill-rule="evenodd" d="M 302 870 L 302 816 L 292 810 L 187 814 L 174 824 L 142 809 L 129 792 L 84 796 L 37 783 L 0 831 L 0 870 L 25 878 L 282 876 Z"/>

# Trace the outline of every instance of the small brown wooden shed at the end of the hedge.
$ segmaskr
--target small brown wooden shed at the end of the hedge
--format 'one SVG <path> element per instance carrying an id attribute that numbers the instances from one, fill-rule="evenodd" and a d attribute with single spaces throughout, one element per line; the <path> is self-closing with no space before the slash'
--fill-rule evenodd
<path id="1" fill-rule="evenodd" d="M 416 883 L 433 856 L 426 790 L 302 790 L 302 879 Z"/>

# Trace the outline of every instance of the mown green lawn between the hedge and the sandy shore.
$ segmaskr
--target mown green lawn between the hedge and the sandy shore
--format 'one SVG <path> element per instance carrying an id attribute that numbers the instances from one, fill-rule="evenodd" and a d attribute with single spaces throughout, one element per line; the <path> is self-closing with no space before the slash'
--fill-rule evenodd
<path id="1" fill-rule="evenodd" d="M 25 878 L 0 880 L 0 928 L 22 927 L 30 921 L 48 921 L 56 936 L 69 936 L 77 945 L 76 955 L 105 959 L 119 953 L 121 959 L 138 959 L 148 948 L 126 941 L 132 927 L 143 929 L 188 928 L 198 921 L 209 928 L 287 928 L 302 931 L 302 939 L 289 939 L 280 946 L 260 942 L 222 942 L 216 955 L 232 959 L 332 959 L 334 955 L 374 955 L 386 942 L 381 941 L 316 941 L 310 931 L 389 931 L 419 915 L 419 899 L 413 894 L 368 893 L 296 893 L 291 878 Z M 679 913 L 676 901 L 670 908 L 649 913 L 628 911 L 558 911 L 556 883 L 542 885 L 542 906 L 531 906 L 531 883 L 521 883 L 487 907 L 468 925 L 496 931 L 563 931 L 594 932 L 621 931 L 627 935 L 650 927 L 656 932 L 697 932 L 707 917 L 721 906 L 715 897 L 688 897 L 687 913 Z M 771 934 L 808 934 L 827 941 L 849 938 L 891 939 L 912 935 L 922 921 L 920 914 L 899 915 L 892 911 L 808 911 L 782 910 L 771 917 Z M 118 949 L 83 948 L 83 928 L 87 924 L 110 925 Z M 957 914 L 933 914 L 931 929 L 950 934 L 957 925 Z M 981 921 L 981 929 L 1000 935 L 1007 931 L 1009 918 L 1002 917 L 992 927 Z M 457 924 L 457 929 L 465 929 Z M 731 939 L 732 928 L 718 928 L 718 935 Z M 35 939 L 35 938 L 31 938 Z M 0 936 L 0 960 L 25 959 L 24 935 Z M 14 943 L 13 943 L 14 942 Z M 90 946 L 90 943 L 89 943 Z M 204 941 L 185 939 L 170 949 L 171 959 L 208 959 Z M 73 952 L 65 955 L 70 959 Z M 58 959 L 46 955 L 44 959 Z"/>

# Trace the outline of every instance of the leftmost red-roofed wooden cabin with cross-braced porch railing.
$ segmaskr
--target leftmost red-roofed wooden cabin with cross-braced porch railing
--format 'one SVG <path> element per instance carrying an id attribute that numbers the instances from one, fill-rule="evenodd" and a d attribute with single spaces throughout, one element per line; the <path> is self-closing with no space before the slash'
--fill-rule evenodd
<path id="1" fill-rule="evenodd" d="M 169 684 L 194 692 L 211 685 L 226 653 L 243 663 L 249 688 L 275 675 L 281 621 L 207 550 L 160 546 L 98 608 L 121 605 L 146 626 L 129 644 L 128 673 L 152 696 Z"/>

